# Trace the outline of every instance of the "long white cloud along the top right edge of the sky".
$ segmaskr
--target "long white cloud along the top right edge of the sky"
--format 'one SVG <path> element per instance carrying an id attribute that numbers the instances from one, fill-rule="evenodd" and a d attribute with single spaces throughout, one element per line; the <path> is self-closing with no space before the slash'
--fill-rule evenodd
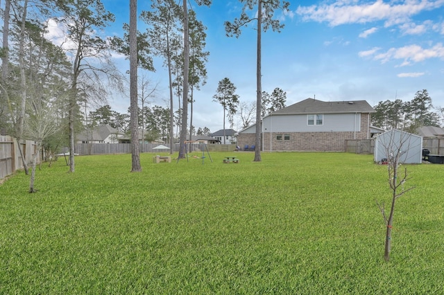
<path id="1" fill-rule="evenodd" d="M 370 21 L 386 21 L 386 26 L 402 24 L 411 16 L 424 10 L 432 10 L 444 6 L 444 0 L 409 0 L 396 4 L 377 0 L 373 3 L 359 1 L 336 1 L 332 4 L 319 6 L 299 6 L 296 14 L 305 21 L 318 21 L 339 26 L 341 24 L 365 24 Z"/>

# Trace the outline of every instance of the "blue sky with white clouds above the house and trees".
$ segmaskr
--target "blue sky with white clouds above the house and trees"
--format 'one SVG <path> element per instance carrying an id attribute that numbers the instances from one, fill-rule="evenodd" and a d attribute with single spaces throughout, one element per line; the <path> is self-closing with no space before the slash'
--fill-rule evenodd
<path id="1" fill-rule="evenodd" d="M 226 37 L 223 22 L 239 17 L 241 3 L 213 2 L 207 8 L 191 0 L 207 26 L 210 51 L 207 83 L 195 93 L 194 125 L 216 132 L 222 129 L 223 111 L 212 96 L 220 80 L 229 78 L 241 101 L 255 101 L 256 31 L 249 26 L 239 38 Z M 128 4 L 103 3 L 117 18 L 107 33 L 121 33 Z M 138 9 L 149 10 L 150 3 L 139 0 Z M 367 100 L 374 106 L 381 100 L 411 100 L 416 91 L 427 89 L 434 105 L 444 107 L 444 0 L 290 3 L 289 13 L 275 12 L 285 25 L 281 33 L 268 30 L 262 35 L 263 91 L 286 91 L 287 105 L 316 96 L 323 101 Z M 144 29 L 142 21 L 139 29 Z M 155 68 L 155 73 L 146 73 L 159 83 L 153 104 L 165 105 L 167 71 L 161 60 L 155 60 Z M 114 97 L 110 105 L 126 112 L 129 98 Z"/>

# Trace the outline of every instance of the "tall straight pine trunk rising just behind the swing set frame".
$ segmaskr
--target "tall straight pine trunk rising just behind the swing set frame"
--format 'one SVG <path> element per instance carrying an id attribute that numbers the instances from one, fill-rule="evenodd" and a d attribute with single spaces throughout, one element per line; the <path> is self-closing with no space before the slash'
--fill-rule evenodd
<path id="1" fill-rule="evenodd" d="M 188 120 L 188 75 L 189 75 L 189 31 L 187 1 L 183 3 L 183 98 L 182 98 L 182 127 L 180 129 L 179 159 L 185 158 Z"/>

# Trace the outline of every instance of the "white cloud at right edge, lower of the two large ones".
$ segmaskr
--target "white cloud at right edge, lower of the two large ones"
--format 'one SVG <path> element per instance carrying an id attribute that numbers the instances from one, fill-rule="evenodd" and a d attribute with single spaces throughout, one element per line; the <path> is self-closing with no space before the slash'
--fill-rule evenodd
<path id="1" fill-rule="evenodd" d="M 380 60 L 382 63 L 389 60 L 403 60 L 400 66 L 407 66 L 412 62 L 423 62 L 430 58 L 444 59 L 444 46 L 442 43 L 438 43 L 430 48 L 422 48 L 419 45 L 413 44 L 403 46 L 400 48 L 390 48 L 385 53 L 376 54 L 374 49 L 370 51 L 361 51 L 360 57 L 368 57 L 374 55 L 375 60 Z"/>

